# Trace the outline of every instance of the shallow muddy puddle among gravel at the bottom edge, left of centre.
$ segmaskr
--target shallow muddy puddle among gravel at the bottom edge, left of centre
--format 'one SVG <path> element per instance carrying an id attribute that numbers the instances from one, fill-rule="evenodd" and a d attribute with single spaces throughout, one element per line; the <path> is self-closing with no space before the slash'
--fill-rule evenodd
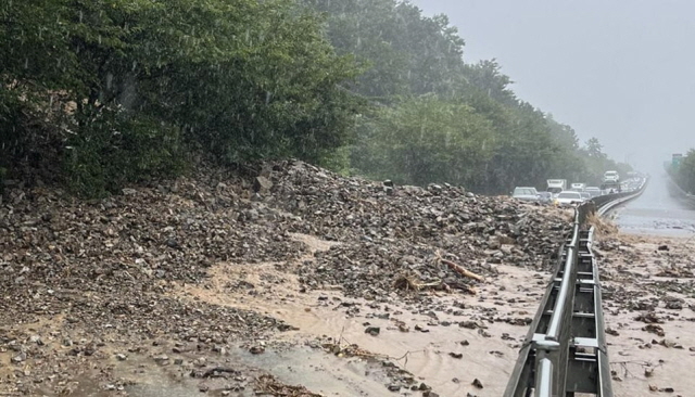
<path id="1" fill-rule="evenodd" d="M 114 376 L 126 384 L 113 386 L 118 387 L 118 390 L 108 389 L 110 386 L 97 382 L 97 376 L 88 374 L 79 376 L 79 383 L 75 382 L 66 389 L 71 396 L 76 397 L 112 397 L 114 394 L 188 397 L 203 395 L 201 389 L 206 390 L 206 396 L 222 396 L 224 390 L 228 390 L 229 396 L 250 397 L 257 395 L 253 387 L 254 377 L 270 373 L 283 384 L 303 385 L 311 392 L 325 396 L 383 396 L 390 393 L 387 392 L 389 379 L 386 368 L 380 362 L 356 357 L 337 357 L 323 349 L 305 346 L 267 350 L 261 355 L 238 349 L 200 368 L 202 371 L 214 368 L 238 371 L 225 377 L 191 377 L 190 362 L 187 359 L 181 366 L 160 366 L 151 358 L 134 356 L 114 364 Z M 47 395 L 53 395 L 43 390 Z"/>

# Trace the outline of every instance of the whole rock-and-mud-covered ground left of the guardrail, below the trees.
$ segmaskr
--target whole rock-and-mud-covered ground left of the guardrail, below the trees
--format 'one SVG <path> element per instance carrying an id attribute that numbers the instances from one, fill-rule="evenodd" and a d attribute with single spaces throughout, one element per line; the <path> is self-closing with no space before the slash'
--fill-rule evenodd
<path id="1" fill-rule="evenodd" d="M 0 208 L 0 393 L 498 396 L 569 215 L 300 162 Z"/>

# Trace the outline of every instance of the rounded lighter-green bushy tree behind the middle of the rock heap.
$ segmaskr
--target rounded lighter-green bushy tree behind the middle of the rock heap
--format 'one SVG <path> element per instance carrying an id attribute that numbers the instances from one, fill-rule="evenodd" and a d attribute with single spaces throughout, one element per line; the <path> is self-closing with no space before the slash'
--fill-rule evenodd
<path id="1" fill-rule="evenodd" d="M 371 175 L 400 183 L 473 183 L 492 155 L 492 125 L 463 103 L 435 95 L 383 108 L 357 153 L 372 159 Z"/>

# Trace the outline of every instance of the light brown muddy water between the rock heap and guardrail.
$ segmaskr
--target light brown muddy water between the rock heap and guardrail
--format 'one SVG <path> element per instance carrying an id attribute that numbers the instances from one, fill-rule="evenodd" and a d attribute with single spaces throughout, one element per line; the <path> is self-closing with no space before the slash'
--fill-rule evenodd
<path id="1" fill-rule="evenodd" d="M 401 368 L 413 373 L 420 382 L 432 386 L 442 396 L 466 395 L 498 396 L 504 392 L 507 379 L 514 368 L 518 346 L 528 328 L 511 325 L 502 321 L 488 321 L 490 318 L 532 318 L 542 296 L 548 274 L 535 273 L 527 269 L 501 266 L 501 276 L 494 281 L 479 287 L 476 296 L 441 295 L 435 299 L 438 309 L 421 306 L 408 306 L 392 299 L 389 304 L 345 298 L 339 291 L 298 293 L 298 280 L 286 272 L 283 264 L 261 264 L 240 268 L 232 265 L 220 265 L 212 269 L 213 277 L 206 285 L 187 286 L 185 294 L 190 298 L 203 299 L 217 305 L 250 308 L 287 321 L 299 328 L 283 334 L 289 341 L 301 343 L 317 336 L 330 336 L 343 345 L 356 344 L 361 348 L 376 355 L 379 359 L 396 362 Z M 281 283 L 265 283 L 264 280 L 277 280 Z M 226 285 L 235 285 L 238 280 L 245 280 L 256 285 L 262 293 L 239 294 Z M 503 291 L 501 291 L 503 290 Z M 454 307 L 454 304 L 456 306 Z M 463 307 L 463 309 L 462 309 Z M 453 310 L 459 312 L 454 316 Z M 486 312 L 486 315 L 482 315 Z M 437 321 L 435 321 L 437 320 Z M 446 322 L 448 326 L 444 326 Z M 460 321 L 476 321 L 483 329 L 466 329 L 458 326 Z M 378 336 L 365 333 L 365 328 L 379 326 Z M 399 326 L 401 325 L 401 326 Z M 417 331 L 416 326 L 422 331 Z M 404 332 L 407 329 L 407 332 Z M 462 342 L 467 341 L 467 345 Z M 463 358 L 454 358 L 450 353 L 462 354 Z M 271 356 L 268 356 L 271 357 Z M 326 356 L 331 357 L 331 356 Z M 261 360 L 265 358 L 261 357 Z M 278 357 L 280 359 L 280 357 Z M 273 364 L 281 369 L 291 362 L 296 372 L 280 373 L 283 381 L 300 382 L 313 390 L 332 390 L 338 396 L 355 394 L 345 390 L 362 385 L 364 374 L 357 376 L 320 377 L 312 387 L 307 382 L 305 370 L 324 373 L 336 366 L 325 362 L 334 358 L 315 360 L 314 368 L 298 366 L 292 356 L 282 357 Z M 269 359 L 270 364 L 275 362 Z M 345 364 L 343 364 L 344 367 Z M 340 367 L 338 367 L 340 368 Z M 274 372 L 275 373 L 275 372 Z M 295 373 L 295 377 L 291 377 Z M 354 373 L 352 373 L 354 375 Z M 479 390 L 471 385 L 478 379 L 484 389 Z M 384 381 L 386 382 L 386 381 Z M 361 386 L 362 387 L 362 386 Z M 340 389 L 343 389 L 341 393 Z M 484 393 L 483 393 L 484 392 Z M 381 396 L 383 383 L 376 389 L 367 386 L 361 388 L 365 396 Z"/>

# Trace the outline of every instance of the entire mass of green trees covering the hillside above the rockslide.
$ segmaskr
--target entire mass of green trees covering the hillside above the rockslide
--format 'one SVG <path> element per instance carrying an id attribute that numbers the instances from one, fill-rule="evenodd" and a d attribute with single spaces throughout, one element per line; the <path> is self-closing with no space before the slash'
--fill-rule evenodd
<path id="1" fill-rule="evenodd" d="M 490 193 L 622 170 L 463 55 L 406 1 L 4 1 L 0 180 L 99 196 L 191 154 Z"/>

